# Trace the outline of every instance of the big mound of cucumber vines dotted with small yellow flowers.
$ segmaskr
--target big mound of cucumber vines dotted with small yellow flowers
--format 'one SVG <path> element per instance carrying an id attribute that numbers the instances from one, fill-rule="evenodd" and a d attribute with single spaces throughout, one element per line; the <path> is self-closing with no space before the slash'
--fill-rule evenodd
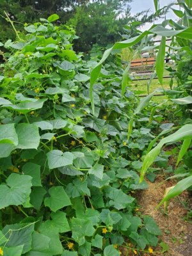
<path id="1" fill-rule="evenodd" d="M 139 129 L 128 144 L 136 98 L 120 90 L 114 54 L 94 87 L 88 61 L 72 49 L 74 31 L 48 20 L 27 26 L 4 47 L 0 125 L 0 246 L 6 255 L 120 255 L 118 246 L 156 246 L 152 218 L 136 216 L 138 154 L 151 134 Z M 133 162 L 131 162 L 132 160 Z M 127 238 L 126 238 L 127 237 Z M 72 252 L 71 252 L 72 251 Z M 78 253 L 78 254 L 77 254 Z"/>

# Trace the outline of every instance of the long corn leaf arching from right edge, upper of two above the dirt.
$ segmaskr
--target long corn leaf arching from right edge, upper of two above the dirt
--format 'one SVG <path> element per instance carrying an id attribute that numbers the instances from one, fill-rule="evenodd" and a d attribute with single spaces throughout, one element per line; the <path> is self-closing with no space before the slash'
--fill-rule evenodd
<path id="1" fill-rule="evenodd" d="M 143 177 L 145 173 L 147 172 L 147 169 L 150 167 L 152 163 L 154 163 L 154 160 L 158 156 L 161 148 L 165 143 L 173 143 L 175 141 L 179 140 L 186 140 L 192 138 L 192 125 L 191 124 L 186 124 L 183 127 L 181 127 L 177 132 L 174 132 L 170 136 L 167 136 L 163 138 L 159 144 L 150 152 L 148 152 L 147 156 L 145 156 L 145 159 L 143 161 L 143 166 L 141 168 L 141 177 L 140 177 L 140 182 L 143 181 Z"/>

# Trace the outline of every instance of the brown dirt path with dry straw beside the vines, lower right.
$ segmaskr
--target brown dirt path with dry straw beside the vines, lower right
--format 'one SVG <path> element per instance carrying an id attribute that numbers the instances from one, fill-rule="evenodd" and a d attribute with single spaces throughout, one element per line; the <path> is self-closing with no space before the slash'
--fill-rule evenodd
<path id="1" fill-rule="evenodd" d="M 161 182 L 164 180 L 161 175 L 156 182 L 148 182 L 148 189 L 140 191 L 137 195 L 138 204 L 141 205 L 140 211 L 142 214 L 148 214 L 156 220 L 163 235 L 160 237 L 169 246 L 168 252 L 161 255 L 164 256 L 191 256 L 192 255 L 192 224 L 184 221 L 188 211 L 182 204 L 188 204 L 188 208 L 192 206 L 192 198 L 188 192 L 182 193 L 177 198 L 170 200 L 168 206 L 168 214 L 163 214 L 163 207 L 155 211 L 155 207 L 164 195 L 164 189 L 173 186 L 175 183 L 172 180 Z M 161 250 L 161 248 L 156 248 Z M 160 255 L 154 253 L 154 255 Z"/>

